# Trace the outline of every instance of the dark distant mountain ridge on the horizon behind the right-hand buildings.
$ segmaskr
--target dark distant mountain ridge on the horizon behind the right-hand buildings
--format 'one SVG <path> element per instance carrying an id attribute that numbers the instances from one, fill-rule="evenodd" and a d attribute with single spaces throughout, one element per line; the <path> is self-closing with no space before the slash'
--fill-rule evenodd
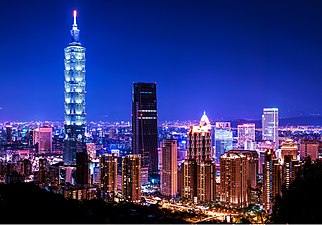
<path id="1" fill-rule="evenodd" d="M 255 123 L 255 127 L 261 128 L 261 120 L 231 120 L 231 127 L 237 127 L 238 124 Z M 279 118 L 279 126 L 322 126 L 322 116 L 297 116 L 289 118 Z"/>

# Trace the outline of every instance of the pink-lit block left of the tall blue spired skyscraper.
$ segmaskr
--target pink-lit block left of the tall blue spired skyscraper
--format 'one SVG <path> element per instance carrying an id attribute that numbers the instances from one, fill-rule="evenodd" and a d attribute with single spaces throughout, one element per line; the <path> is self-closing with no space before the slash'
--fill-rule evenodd
<path id="1" fill-rule="evenodd" d="M 53 149 L 53 129 L 51 127 L 40 127 L 33 130 L 33 145 L 38 143 L 38 153 L 51 153 Z"/>

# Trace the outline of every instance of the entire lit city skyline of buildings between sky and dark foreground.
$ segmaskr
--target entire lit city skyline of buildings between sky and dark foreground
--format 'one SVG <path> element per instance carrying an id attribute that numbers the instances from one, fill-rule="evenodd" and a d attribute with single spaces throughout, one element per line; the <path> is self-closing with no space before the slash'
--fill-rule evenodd
<path id="1" fill-rule="evenodd" d="M 66 198 L 140 202 L 142 187 L 156 181 L 165 197 L 229 207 L 261 204 L 270 211 L 302 160 L 319 158 L 319 140 L 279 137 L 277 108 L 263 109 L 260 141 L 255 124 L 238 125 L 234 137 L 230 122 L 211 124 L 206 113 L 199 124 L 176 125 L 170 133 L 165 125 L 163 135 L 156 83 L 133 83 L 131 124 L 92 128 L 86 122 L 86 49 L 79 34 L 74 12 L 72 40 L 64 50 L 64 126 L 35 124 L 13 135 L 7 125 L 2 182 L 34 182 Z M 115 149 L 107 151 L 107 144 Z"/>

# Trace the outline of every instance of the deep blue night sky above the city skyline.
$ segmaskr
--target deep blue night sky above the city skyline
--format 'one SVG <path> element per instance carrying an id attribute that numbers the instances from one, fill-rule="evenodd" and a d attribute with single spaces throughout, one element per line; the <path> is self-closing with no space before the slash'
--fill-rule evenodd
<path id="1" fill-rule="evenodd" d="M 322 113 L 320 0 L 1 0 L 0 121 L 63 121 L 74 9 L 88 121 L 130 120 L 133 82 L 160 120 Z"/>

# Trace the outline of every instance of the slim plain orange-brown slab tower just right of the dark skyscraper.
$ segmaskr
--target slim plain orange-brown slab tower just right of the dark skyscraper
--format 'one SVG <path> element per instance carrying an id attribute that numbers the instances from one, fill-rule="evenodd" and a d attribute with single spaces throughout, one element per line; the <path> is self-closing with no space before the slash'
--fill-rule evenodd
<path id="1" fill-rule="evenodd" d="M 161 142 L 161 194 L 175 197 L 178 190 L 177 140 Z"/>

